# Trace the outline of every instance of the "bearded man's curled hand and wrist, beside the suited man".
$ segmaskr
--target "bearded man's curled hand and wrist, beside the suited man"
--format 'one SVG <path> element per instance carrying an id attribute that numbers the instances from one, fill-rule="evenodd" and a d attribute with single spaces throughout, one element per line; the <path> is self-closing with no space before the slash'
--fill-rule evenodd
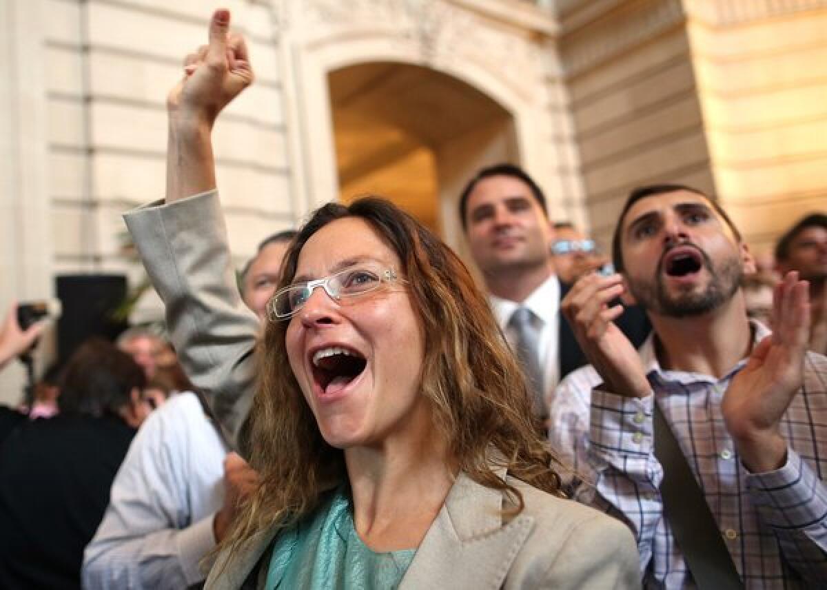
<path id="1" fill-rule="evenodd" d="M 586 275 L 571 287 L 561 309 L 586 358 L 603 378 L 605 389 L 620 396 L 645 397 L 652 388 L 638 352 L 614 324 L 623 314 L 623 306 L 609 307 L 623 292 L 619 275 Z"/>

